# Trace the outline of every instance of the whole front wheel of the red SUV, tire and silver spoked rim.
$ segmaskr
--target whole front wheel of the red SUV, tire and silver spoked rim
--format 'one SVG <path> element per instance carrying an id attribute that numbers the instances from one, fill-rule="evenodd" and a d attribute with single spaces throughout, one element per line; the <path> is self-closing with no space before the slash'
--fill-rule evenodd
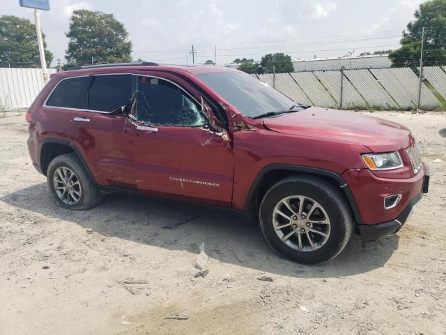
<path id="1" fill-rule="evenodd" d="M 272 248 L 303 264 L 332 260 L 344 250 L 354 230 L 351 209 L 341 191 L 312 176 L 288 177 L 277 182 L 263 197 L 259 218 L 263 236 Z"/>

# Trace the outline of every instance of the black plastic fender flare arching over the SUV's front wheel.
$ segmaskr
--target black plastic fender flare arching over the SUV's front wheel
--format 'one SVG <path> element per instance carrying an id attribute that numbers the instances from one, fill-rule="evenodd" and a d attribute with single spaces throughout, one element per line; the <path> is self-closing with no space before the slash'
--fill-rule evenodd
<path id="1" fill-rule="evenodd" d="M 353 193 L 351 192 L 350 187 L 344 180 L 344 178 L 341 177 L 340 174 L 337 174 L 336 172 L 332 172 L 330 170 L 324 170 L 320 168 L 310 168 L 308 166 L 301 166 L 301 165 L 289 165 L 289 164 L 271 164 L 267 165 L 265 168 L 263 168 L 259 174 L 257 174 L 256 179 L 254 179 L 254 182 L 252 183 L 251 188 L 249 189 L 249 193 L 246 198 L 245 202 L 245 211 L 252 211 L 255 206 L 254 199 L 256 197 L 257 192 L 260 189 L 261 182 L 263 181 L 263 177 L 266 173 L 273 171 L 273 170 L 286 170 L 286 171 L 295 171 L 295 172 L 301 172 L 306 174 L 313 174 L 316 176 L 326 177 L 328 179 L 331 179 L 334 181 L 339 188 L 343 191 L 344 195 L 346 196 L 346 199 L 348 201 L 348 204 L 350 204 L 351 211 L 353 214 L 353 218 L 355 219 L 356 225 L 362 225 L 362 216 L 360 213 L 359 208 L 357 207 L 357 203 L 355 200 L 355 197 L 353 196 Z"/>

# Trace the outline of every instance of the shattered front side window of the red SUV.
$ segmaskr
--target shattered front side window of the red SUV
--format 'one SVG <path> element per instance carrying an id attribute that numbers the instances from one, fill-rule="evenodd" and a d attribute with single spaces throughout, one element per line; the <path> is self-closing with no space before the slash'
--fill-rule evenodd
<path id="1" fill-rule="evenodd" d="M 206 124 L 200 107 L 167 80 L 142 77 L 137 80 L 137 119 L 145 124 L 196 127 Z"/>

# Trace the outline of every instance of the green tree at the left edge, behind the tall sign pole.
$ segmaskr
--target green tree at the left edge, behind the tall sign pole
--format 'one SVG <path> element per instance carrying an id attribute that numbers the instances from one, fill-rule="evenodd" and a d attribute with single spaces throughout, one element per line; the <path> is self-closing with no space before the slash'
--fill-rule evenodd
<path id="1" fill-rule="evenodd" d="M 47 50 L 45 34 L 42 34 L 47 66 L 53 54 Z M 40 68 L 36 26 L 17 16 L 0 17 L 0 68 Z"/>

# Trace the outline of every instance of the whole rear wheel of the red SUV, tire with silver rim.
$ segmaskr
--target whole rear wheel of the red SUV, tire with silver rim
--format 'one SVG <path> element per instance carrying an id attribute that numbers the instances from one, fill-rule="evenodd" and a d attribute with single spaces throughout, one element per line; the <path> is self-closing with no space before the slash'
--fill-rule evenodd
<path id="1" fill-rule="evenodd" d="M 56 156 L 49 163 L 47 182 L 60 207 L 82 211 L 98 206 L 102 201 L 98 187 L 74 153 Z M 69 183 L 72 184 L 68 186 Z"/>

